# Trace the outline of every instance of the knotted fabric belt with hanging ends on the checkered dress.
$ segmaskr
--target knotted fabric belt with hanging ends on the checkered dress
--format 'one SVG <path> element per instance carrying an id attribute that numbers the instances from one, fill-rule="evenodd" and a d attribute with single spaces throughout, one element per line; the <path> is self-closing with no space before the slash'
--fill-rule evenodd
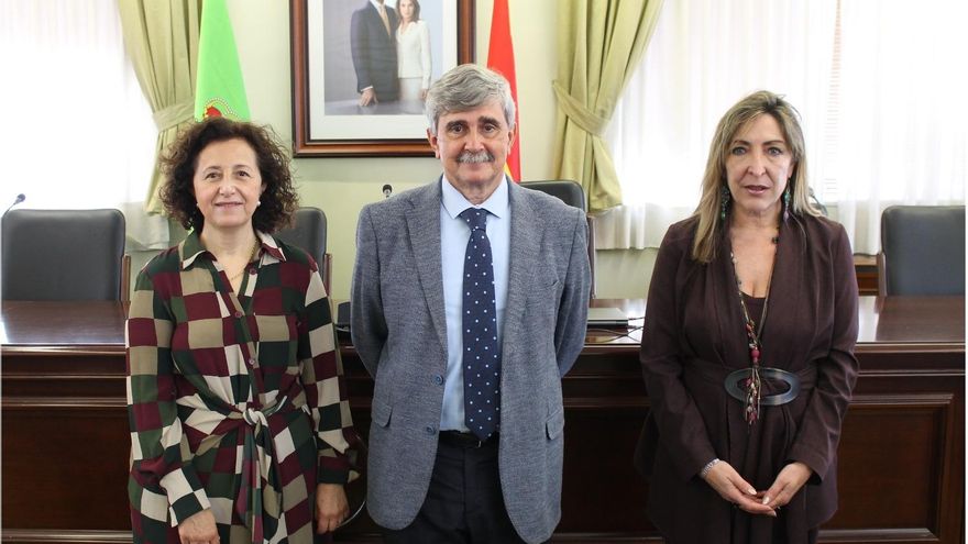
<path id="1" fill-rule="evenodd" d="M 274 446 L 272 433 L 268 432 L 268 418 L 273 414 L 292 409 L 288 397 L 282 397 L 278 401 L 262 409 L 246 408 L 241 411 L 241 421 L 248 426 L 242 430 L 244 435 L 242 444 L 242 479 L 239 496 L 235 498 L 235 513 L 245 523 L 252 533 L 252 543 L 262 544 L 267 542 L 266 533 L 272 537 L 278 526 L 266 528 L 263 519 L 264 509 L 278 519 L 282 512 L 282 496 L 270 492 L 272 487 L 263 484 L 270 481 L 274 469 Z M 283 520 L 279 520 L 282 523 Z M 268 531 L 267 531 L 268 530 Z"/>

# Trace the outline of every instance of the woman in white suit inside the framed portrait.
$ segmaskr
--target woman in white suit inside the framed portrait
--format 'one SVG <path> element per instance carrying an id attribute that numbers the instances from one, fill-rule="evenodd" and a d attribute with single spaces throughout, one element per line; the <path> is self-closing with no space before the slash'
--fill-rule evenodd
<path id="1" fill-rule="evenodd" d="M 430 30 L 420 19 L 418 0 L 400 0 L 397 12 L 400 16 L 396 32 L 400 100 L 422 101 L 430 88 Z"/>

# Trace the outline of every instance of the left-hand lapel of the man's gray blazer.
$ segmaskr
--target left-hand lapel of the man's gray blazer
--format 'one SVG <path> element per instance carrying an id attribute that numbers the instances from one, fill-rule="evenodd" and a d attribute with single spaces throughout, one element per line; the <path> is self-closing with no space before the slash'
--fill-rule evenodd
<path id="1" fill-rule="evenodd" d="M 410 195 L 413 207 L 406 215 L 410 247 L 417 263 L 417 277 L 430 311 L 433 330 L 447 351 L 447 324 L 443 308 L 443 278 L 440 264 L 440 179 L 425 190 Z"/>

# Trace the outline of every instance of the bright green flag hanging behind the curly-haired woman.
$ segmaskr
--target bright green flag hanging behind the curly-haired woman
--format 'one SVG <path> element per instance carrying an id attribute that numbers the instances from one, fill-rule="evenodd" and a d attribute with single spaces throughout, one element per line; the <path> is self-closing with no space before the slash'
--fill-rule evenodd
<path id="1" fill-rule="evenodd" d="M 205 0 L 198 42 L 195 120 L 221 115 L 249 121 L 245 84 L 226 0 Z"/>

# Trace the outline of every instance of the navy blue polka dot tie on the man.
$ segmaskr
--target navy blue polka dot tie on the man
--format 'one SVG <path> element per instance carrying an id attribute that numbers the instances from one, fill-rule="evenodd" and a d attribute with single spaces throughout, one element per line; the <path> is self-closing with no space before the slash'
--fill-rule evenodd
<path id="1" fill-rule="evenodd" d="M 479 438 L 501 422 L 501 349 L 494 302 L 494 266 L 485 224 L 487 210 L 468 208 L 460 218 L 471 227 L 464 258 L 464 422 Z"/>

